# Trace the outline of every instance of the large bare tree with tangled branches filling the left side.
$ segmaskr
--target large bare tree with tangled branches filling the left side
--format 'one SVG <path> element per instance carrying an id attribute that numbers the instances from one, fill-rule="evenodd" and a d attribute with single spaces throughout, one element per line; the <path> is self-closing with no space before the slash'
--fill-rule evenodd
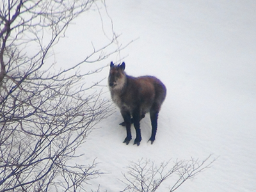
<path id="1" fill-rule="evenodd" d="M 111 110 L 102 92 L 92 90 L 100 81 L 84 84 L 100 68 L 78 68 L 122 49 L 105 52 L 117 36 L 69 68 L 56 70 L 51 61 L 68 24 L 93 3 L 0 1 L 0 191 L 79 191 L 100 174 L 95 162 L 70 161 Z"/>

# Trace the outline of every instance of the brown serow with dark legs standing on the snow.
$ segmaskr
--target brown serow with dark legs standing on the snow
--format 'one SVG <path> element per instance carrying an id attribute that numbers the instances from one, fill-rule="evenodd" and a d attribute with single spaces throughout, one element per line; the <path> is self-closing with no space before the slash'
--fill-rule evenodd
<path id="1" fill-rule="evenodd" d="M 126 127 L 126 145 L 132 139 L 131 124 L 136 130 L 134 145 L 140 145 L 140 120 L 150 113 L 152 134 L 148 141 L 151 144 L 156 138 L 157 118 L 161 105 L 166 97 L 166 87 L 153 76 L 132 77 L 124 72 L 125 63 L 114 65 L 110 63 L 108 84 L 113 102 L 120 108 L 124 122 L 120 125 Z M 131 118 L 132 117 L 132 118 Z"/>

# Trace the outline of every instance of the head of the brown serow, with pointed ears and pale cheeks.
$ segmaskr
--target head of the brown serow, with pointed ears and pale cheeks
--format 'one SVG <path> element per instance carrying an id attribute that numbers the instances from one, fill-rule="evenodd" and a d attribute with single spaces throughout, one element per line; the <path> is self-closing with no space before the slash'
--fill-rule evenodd
<path id="1" fill-rule="evenodd" d="M 124 87 L 126 80 L 124 69 L 124 62 L 119 65 L 114 65 L 114 63 L 111 61 L 108 77 L 108 85 L 111 90 L 120 90 Z"/>

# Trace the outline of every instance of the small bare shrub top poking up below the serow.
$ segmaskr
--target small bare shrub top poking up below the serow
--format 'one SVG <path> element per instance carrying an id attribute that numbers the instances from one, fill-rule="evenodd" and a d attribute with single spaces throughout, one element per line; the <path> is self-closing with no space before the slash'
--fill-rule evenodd
<path id="1" fill-rule="evenodd" d="M 168 168 L 170 161 L 163 162 L 159 166 L 151 160 L 141 159 L 138 163 L 132 162 L 127 167 L 127 174 L 123 174 L 124 180 L 121 180 L 126 186 L 123 191 L 154 192 L 166 180 L 172 183 L 167 191 L 175 191 L 186 180 L 193 179 L 198 173 L 209 168 L 215 161 L 214 159 L 209 162 L 210 157 L 207 157 L 204 161 L 193 158 L 187 161 L 177 160 L 173 162 L 172 168 Z M 175 178 L 171 180 L 170 177 Z"/>

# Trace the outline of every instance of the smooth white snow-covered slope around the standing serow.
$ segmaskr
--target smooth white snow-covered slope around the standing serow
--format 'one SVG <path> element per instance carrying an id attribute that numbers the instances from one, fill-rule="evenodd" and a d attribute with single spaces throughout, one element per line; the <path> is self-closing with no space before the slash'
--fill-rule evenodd
<path id="1" fill-rule="evenodd" d="M 122 190 L 118 179 L 129 161 L 203 160 L 213 154 L 218 159 L 211 168 L 178 191 L 256 191 L 256 1 L 107 0 L 106 5 L 113 30 L 122 33 L 118 44 L 135 41 L 104 65 L 125 57 L 127 74 L 156 76 L 168 93 L 153 145 L 147 143 L 148 116 L 141 120 L 139 147 L 122 143 L 125 129 L 118 125 L 118 109 L 97 125 L 79 149 L 81 162 L 97 157 L 97 168 L 108 174 L 92 180 L 88 189 L 100 184 L 101 191 Z M 103 7 L 100 12 L 111 37 L 111 20 Z M 91 41 L 96 47 L 108 41 L 97 11 L 70 26 L 56 61 L 81 61 L 92 50 Z M 107 77 L 108 70 L 100 76 Z M 104 97 L 110 98 L 107 87 Z M 168 182 L 163 186 L 162 191 Z"/>

